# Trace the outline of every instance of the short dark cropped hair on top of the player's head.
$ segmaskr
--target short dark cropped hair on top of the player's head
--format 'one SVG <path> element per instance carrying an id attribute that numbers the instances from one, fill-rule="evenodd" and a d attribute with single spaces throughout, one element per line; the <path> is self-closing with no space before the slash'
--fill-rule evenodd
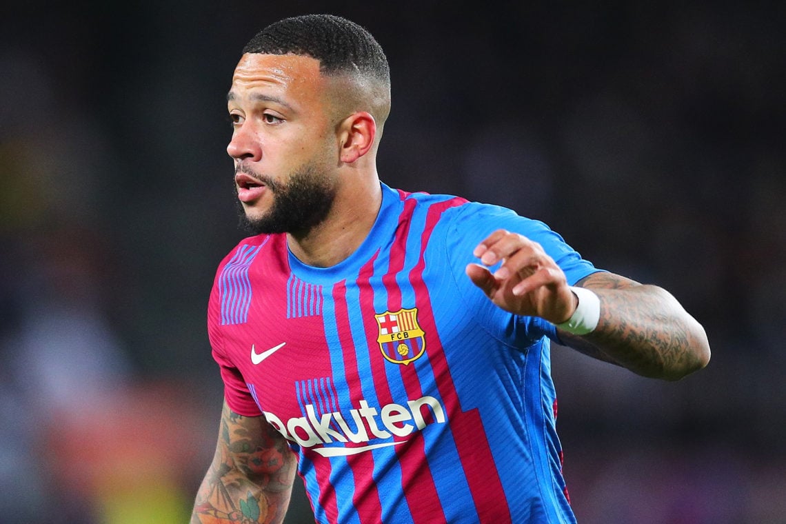
<path id="1" fill-rule="evenodd" d="M 307 55 L 319 60 L 325 75 L 360 73 L 390 86 L 382 46 L 364 27 L 341 16 L 311 14 L 279 20 L 259 31 L 243 53 Z"/>

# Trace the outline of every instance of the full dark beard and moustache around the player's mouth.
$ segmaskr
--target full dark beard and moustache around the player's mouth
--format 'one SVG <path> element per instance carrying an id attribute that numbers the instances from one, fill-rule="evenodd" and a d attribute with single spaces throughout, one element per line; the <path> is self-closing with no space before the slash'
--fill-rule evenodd
<path id="1" fill-rule="evenodd" d="M 270 210 L 255 217 L 249 217 L 240 200 L 235 200 L 241 228 L 254 235 L 306 233 L 325 220 L 336 196 L 327 174 L 314 164 L 292 172 L 286 183 L 257 174 L 244 164 L 235 172 L 252 176 L 273 193 Z"/>

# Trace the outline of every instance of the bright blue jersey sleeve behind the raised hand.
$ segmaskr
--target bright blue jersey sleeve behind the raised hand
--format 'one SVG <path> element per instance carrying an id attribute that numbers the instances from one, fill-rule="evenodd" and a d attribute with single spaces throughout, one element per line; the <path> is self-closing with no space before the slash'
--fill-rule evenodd
<path id="1" fill-rule="evenodd" d="M 514 315 L 494 305 L 472 280 L 466 276 L 465 268 L 479 260 L 472 255 L 475 247 L 497 229 L 520 233 L 543 247 L 547 255 L 554 259 L 565 273 L 567 284 L 574 285 L 578 280 L 603 269 L 597 269 L 592 262 L 582 258 L 569 246 L 559 233 L 544 222 L 525 218 L 505 207 L 483 203 L 467 203 L 457 207 L 450 220 L 450 230 L 446 235 L 446 257 L 453 270 L 456 285 L 465 299 L 465 306 L 476 313 L 476 320 L 486 328 L 490 335 L 520 349 L 548 336 L 556 339 L 556 328 L 540 317 Z M 492 272 L 497 266 L 490 268 Z"/>

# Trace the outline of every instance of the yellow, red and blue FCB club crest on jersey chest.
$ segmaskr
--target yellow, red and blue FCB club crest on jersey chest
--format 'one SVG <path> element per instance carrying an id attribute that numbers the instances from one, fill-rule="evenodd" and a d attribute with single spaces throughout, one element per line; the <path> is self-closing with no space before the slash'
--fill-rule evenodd
<path id="1" fill-rule="evenodd" d="M 395 313 L 385 311 L 374 317 L 380 328 L 376 342 L 380 343 L 382 355 L 388 361 L 410 365 L 411 361 L 421 357 L 426 350 L 426 338 L 417 324 L 417 308 Z"/>

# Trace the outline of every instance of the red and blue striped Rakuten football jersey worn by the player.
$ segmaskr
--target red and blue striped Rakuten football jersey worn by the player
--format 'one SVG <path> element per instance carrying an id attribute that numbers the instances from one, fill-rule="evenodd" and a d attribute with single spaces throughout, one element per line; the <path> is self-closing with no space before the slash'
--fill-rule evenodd
<path id="1" fill-rule="evenodd" d="M 575 522 L 549 365 L 553 324 L 507 313 L 465 266 L 496 229 L 568 284 L 596 272 L 542 222 L 382 185 L 373 229 L 315 268 L 241 241 L 208 308 L 227 404 L 290 443 L 318 522 Z"/>

